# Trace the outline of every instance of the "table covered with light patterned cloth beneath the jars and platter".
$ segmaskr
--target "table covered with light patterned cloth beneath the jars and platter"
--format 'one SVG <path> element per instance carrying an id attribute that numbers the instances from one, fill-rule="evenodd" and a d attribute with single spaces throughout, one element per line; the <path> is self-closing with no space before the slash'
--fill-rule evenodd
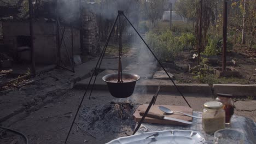
<path id="1" fill-rule="evenodd" d="M 202 112 L 194 111 L 193 115 L 202 117 Z M 214 143 L 214 134 L 206 134 L 202 129 L 202 119 L 193 118 L 193 122 L 194 124 L 188 126 L 142 123 L 136 134 L 168 129 L 194 130 L 199 131 L 203 137 L 205 137 L 206 143 Z M 231 124 L 226 125 L 226 128 L 242 131 L 245 134 L 245 144 L 256 143 L 256 124 L 252 121 L 252 119 L 233 115 L 231 118 Z"/>

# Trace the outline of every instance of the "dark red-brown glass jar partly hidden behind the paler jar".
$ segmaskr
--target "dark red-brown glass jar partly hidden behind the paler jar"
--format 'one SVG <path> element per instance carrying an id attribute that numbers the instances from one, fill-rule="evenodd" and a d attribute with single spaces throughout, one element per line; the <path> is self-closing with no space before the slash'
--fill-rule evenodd
<path id="1" fill-rule="evenodd" d="M 215 101 L 219 101 L 223 104 L 223 109 L 226 113 L 226 124 L 230 124 L 232 115 L 234 115 L 234 101 L 231 94 L 217 93 L 218 97 Z"/>

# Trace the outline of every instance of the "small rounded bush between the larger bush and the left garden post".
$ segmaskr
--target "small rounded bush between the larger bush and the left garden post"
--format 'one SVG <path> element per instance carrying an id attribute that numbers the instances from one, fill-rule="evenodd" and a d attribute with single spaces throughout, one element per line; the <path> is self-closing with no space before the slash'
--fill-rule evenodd
<path id="1" fill-rule="evenodd" d="M 195 35 L 192 33 L 182 33 L 179 37 L 179 45 L 183 47 L 183 49 L 193 49 L 196 43 Z"/>

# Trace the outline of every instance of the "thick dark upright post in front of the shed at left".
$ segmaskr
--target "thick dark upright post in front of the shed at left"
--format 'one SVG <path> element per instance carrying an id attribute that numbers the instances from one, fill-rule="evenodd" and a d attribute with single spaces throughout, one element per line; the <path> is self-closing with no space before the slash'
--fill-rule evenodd
<path id="1" fill-rule="evenodd" d="M 33 0 L 28 0 L 30 11 L 30 59 L 31 59 L 31 72 L 32 75 L 36 75 L 36 64 L 34 61 L 34 29 L 33 29 Z"/>

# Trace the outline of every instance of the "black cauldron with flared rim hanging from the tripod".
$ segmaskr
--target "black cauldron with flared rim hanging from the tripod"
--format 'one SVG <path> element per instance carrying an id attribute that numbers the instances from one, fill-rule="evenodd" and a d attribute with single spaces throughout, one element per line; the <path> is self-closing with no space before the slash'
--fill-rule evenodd
<path id="1" fill-rule="evenodd" d="M 127 98 L 132 95 L 136 81 L 138 81 L 140 78 L 141 77 L 136 74 L 123 73 L 124 82 L 117 82 L 118 73 L 114 73 L 103 76 L 102 80 L 107 82 L 109 92 L 113 97 Z M 126 82 L 126 80 L 129 81 Z"/>

